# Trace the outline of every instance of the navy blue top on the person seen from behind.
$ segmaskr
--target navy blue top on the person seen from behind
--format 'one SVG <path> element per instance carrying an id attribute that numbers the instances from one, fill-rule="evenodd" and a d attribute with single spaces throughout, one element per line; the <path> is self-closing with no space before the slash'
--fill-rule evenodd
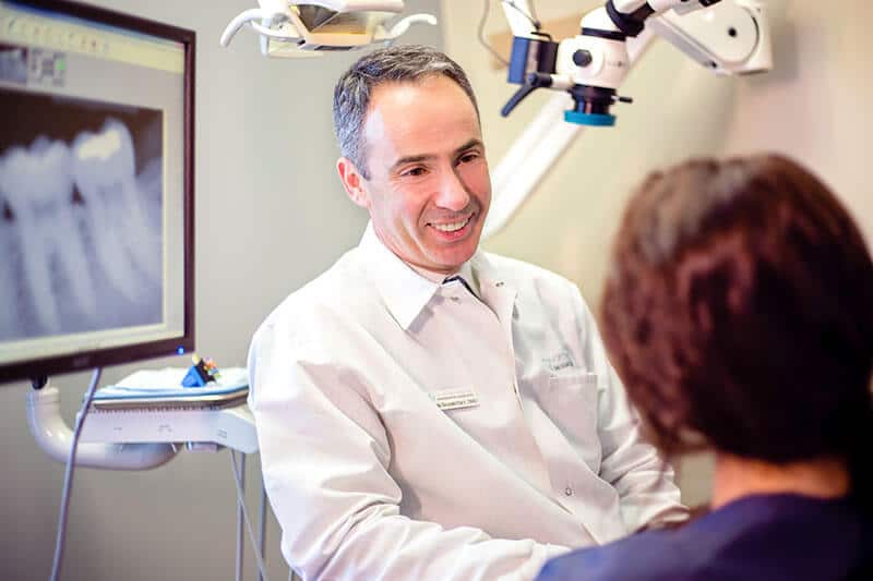
<path id="1" fill-rule="evenodd" d="M 873 519 L 847 498 L 748 496 L 674 530 L 574 550 L 537 581 L 873 581 Z"/>

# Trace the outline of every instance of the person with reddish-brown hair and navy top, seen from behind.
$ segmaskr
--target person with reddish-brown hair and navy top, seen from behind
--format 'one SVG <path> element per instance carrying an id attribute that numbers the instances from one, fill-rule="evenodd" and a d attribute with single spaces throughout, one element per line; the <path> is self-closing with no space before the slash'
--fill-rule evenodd
<path id="1" fill-rule="evenodd" d="M 778 155 L 687 161 L 613 252 L 612 363 L 661 451 L 715 451 L 711 511 L 538 579 L 873 579 L 873 263 L 837 197 Z"/>

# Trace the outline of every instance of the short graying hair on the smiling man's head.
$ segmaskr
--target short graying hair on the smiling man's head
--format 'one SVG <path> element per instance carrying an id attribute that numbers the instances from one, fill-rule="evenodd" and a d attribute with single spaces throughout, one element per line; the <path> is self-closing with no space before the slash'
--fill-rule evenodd
<path id="1" fill-rule="evenodd" d="M 375 50 L 358 59 L 334 87 L 334 131 L 340 154 L 350 159 L 364 179 L 369 179 L 363 140 L 363 123 L 370 96 L 384 83 L 416 82 L 429 75 L 443 75 L 464 89 L 473 101 L 476 117 L 479 106 L 464 70 L 436 49 L 421 45 L 397 45 Z M 427 104 L 422 104 L 424 107 Z M 422 110 L 422 114 L 427 114 Z"/>

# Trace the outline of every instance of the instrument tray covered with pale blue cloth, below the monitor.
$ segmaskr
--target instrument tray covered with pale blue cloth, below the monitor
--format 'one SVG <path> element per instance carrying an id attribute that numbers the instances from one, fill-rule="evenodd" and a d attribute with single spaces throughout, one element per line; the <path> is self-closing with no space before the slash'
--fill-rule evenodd
<path id="1" fill-rule="evenodd" d="M 246 403 L 249 379 L 243 367 L 223 368 L 215 382 L 202 387 L 181 385 L 188 370 L 144 370 L 116 385 L 98 389 L 91 409 L 109 410 L 218 410 Z"/>

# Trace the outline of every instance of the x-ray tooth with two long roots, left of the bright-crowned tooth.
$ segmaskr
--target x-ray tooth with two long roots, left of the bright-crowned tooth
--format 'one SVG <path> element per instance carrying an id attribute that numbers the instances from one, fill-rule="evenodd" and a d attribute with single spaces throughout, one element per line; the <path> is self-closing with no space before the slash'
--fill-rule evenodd
<path id="1" fill-rule="evenodd" d="M 73 179 L 67 145 L 39 136 L 29 150 L 11 148 L 2 159 L 0 182 L 15 216 L 24 290 L 33 296 L 40 327 L 47 332 L 62 330 L 56 290 L 69 290 L 77 310 L 95 316 L 94 287 L 71 205 Z"/>

